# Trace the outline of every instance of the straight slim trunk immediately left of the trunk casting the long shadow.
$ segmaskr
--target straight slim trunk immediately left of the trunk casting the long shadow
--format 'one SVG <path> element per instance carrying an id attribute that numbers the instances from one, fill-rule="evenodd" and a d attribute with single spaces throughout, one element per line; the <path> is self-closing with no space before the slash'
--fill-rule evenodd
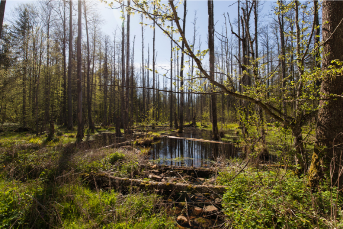
<path id="1" fill-rule="evenodd" d="M 73 2 L 69 1 L 69 57 L 68 57 L 68 129 L 73 129 L 72 107 L 72 59 L 73 59 Z"/>

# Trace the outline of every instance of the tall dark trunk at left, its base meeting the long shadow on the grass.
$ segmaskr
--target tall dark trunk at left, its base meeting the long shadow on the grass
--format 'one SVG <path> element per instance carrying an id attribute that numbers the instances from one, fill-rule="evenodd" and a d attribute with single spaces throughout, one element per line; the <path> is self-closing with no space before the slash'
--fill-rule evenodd
<path id="1" fill-rule="evenodd" d="M 76 43 L 76 57 L 77 57 L 77 141 L 81 141 L 83 138 L 83 120 L 82 120 L 82 59 L 81 59 L 81 36 L 82 36 L 82 24 L 81 14 L 82 6 L 81 1 L 78 1 L 78 19 L 77 19 L 77 43 Z"/>

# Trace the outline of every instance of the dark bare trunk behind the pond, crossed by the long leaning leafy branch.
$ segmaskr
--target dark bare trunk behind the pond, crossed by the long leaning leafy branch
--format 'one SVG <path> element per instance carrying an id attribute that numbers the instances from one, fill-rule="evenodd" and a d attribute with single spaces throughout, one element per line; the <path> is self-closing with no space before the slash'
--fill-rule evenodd
<path id="1" fill-rule="evenodd" d="M 214 79 L 215 72 L 215 45 L 214 45 L 214 21 L 213 21 L 213 0 L 207 1 L 208 6 L 208 48 L 210 54 L 210 77 Z M 211 95 L 212 112 L 212 134 L 213 140 L 219 139 L 217 121 L 217 97 Z"/>

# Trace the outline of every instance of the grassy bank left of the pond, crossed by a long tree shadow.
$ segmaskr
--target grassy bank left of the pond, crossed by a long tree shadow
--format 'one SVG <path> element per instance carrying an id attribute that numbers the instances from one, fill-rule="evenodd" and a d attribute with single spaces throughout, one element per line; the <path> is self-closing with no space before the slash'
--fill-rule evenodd
<path id="1" fill-rule="evenodd" d="M 50 142 L 26 133 L 1 137 L 0 228 L 174 228 L 160 196 L 103 190 L 83 180 L 101 170 L 131 178 L 143 155 L 126 148 L 78 149 L 72 134 Z"/>

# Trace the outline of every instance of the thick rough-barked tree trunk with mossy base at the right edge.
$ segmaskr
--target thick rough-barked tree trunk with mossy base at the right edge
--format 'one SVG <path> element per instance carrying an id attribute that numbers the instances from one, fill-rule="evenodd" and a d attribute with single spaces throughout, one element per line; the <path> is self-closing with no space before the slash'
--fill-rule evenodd
<path id="1" fill-rule="evenodd" d="M 342 18 L 342 2 L 323 1 L 322 30 L 323 40 L 327 41 L 323 46 L 323 71 L 328 69 L 332 60 L 343 61 L 343 25 L 339 25 Z M 335 29 L 336 31 L 333 34 Z M 320 93 L 324 95 L 342 95 L 342 76 L 325 76 L 321 82 Z M 312 156 L 312 164 L 309 171 L 310 185 L 316 186 L 319 179 L 323 178 L 324 174 L 326 174 L 328 178 L 331 178 L 331 185 L 342 186 L 339 171 L 342 172 L 343 165 L 341 160 L 341 144 L 343 144 L 343 99 L 329 97 L 328 100 L 320 101 L 319 106 L 315 151 Z"/>

